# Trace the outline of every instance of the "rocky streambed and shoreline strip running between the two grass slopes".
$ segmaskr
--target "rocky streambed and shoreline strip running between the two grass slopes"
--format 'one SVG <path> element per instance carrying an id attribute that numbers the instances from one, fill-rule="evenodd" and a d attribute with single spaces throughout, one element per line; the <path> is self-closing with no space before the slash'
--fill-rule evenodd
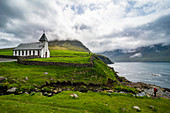
<path id="1" fill-rule="evenodd" d="M 107 92 L 107 93 L 131 93 L 134 96 L 147 96 L 152 98 L 167 98 L 170 99 L 170 89 L 168 88 L 161 88 L 156 85 L 152 84 L 146 84 L 142 82 L 131 82 L 127 80 L 125 77 L 120 77 L 117 75 L 117 73 L 114 71 L 113 68 L 111 68 L 113 72 L 115 73 L 115 76 L 117 78 L 117 81 L 114 81 L 110 78 L 108 78 L 107 84 L 85 84 L 83 82 L 72 82 L 72 81 L 63 81 L 63 82 L 54 82 L 53 79 L 50 81 L 46 81 L 46 83 L 43 86 L 37 86 L 34 84 L 31 85 L 30 88 L 28 87 L 8 87 L 7 82 L 4 82 L 7 80 L 5 77 L 0 77 L 0 95 L 6 95 L 6 94 L 33 94 L 35 92 L 41 92 L 45 96 L 53 96 L 54 94 L 60 93 L 62 91 L 80 91 L 80 92 Z M 26 77 L 23 81 L 26 83 L 26 81 L 29 78 Z M 118 86 L 118 88 L 115 88 L 115 86 Z M 126 88 L 133 88 L 132 89 L 126 89 Z M 157 88 L 157 96 L 154 96 L 154 88 Z M 137 93 L 136 93 L 137 92 Z"/>

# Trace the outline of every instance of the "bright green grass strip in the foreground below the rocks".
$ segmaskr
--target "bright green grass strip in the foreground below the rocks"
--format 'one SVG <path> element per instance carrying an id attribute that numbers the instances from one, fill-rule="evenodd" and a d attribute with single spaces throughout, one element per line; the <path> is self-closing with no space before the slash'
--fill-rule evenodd
<path id="1" fill-rule="evenodd" d="M 72 98 L 70 94 L 76 93 L 79 98 Z M 0 96 L 1 112 L 8 113 L 51 113 L 51 112 L 94 112 L 94 113 L 135 113 L 132 107 L 139 106 L 141 113 L 169 113 L 170 100 L 152 99 L 152 98 L 135 98 L 126 94 L 107 95 L 105 93 L 80 93 L 65 91 L 52 97 L 42 96 L 36 93 L 33 96 L 22 95 L 3 95 Z M 154 106 L 151 109 L 149 106 Z"/>

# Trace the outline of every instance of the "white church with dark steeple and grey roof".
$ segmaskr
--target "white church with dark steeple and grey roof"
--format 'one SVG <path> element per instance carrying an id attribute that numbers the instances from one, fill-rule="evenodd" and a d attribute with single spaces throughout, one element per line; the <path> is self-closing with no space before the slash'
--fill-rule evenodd
<path id="1" fill-rule="evenodd" d="M 13 49 L 13 56 L 38 56 L 41 58 L 49 58 L 50 51 L 48 49 L 48 39 L 45 35 L 45 31 L 39 39 L 39 42 L 18 45 Z"/>

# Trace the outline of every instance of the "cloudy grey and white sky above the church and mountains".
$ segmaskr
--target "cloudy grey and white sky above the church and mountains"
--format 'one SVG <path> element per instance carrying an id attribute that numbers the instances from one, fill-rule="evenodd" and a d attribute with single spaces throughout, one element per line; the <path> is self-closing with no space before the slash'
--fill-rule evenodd
<path id="1" fill-rule="evenodd" d="M 77 39 L 92 52 L 170 44 L 170 0 L 0 0 L 0 48 Z"/>

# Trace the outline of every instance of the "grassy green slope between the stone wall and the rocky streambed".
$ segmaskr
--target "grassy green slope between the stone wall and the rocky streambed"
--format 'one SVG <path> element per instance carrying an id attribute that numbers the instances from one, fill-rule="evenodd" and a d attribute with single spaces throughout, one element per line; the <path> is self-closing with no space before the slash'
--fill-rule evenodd
<path id="1" fill-rule="evenodd" d="M 45 81 L 54 79 L 57 81 L 84 82 L 86 84 L 106 84 L 108 78 L 116 80 L 113 71 L 102 61 L 95 60 L 94 68 L 87 67 L 64 67 L 64 66 L 38 66 L 22 65 L 16 62 L 0 63 L 0 76 L 8 78 L 10 84 L 17 83 L 20 86 L 45 84 Z M 48 72 L 45 75 L 44 72 Z M 22 81 L 28 77 L 27 83 Z"/>

